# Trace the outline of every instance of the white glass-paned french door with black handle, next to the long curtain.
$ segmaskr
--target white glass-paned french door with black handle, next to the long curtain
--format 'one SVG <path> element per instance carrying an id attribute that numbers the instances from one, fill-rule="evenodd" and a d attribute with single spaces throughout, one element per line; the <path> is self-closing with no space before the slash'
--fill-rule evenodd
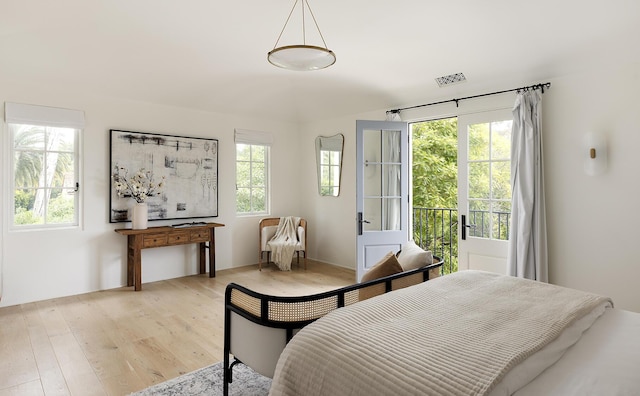
<path id="1" fill-rule="evenodd" d="M 511 111 L 458 117 L 458 270 L 507 273 Z"/>

